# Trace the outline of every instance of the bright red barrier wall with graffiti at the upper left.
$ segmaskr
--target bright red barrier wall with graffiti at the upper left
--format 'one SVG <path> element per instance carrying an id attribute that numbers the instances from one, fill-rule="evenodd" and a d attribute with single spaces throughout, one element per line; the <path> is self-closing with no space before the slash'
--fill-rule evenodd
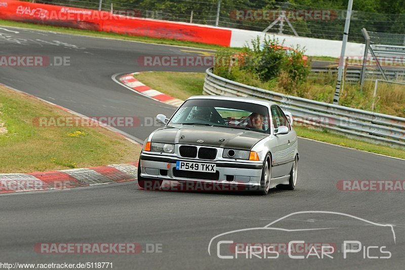
<path id="1" fill-rule="evenodd" d="M 113 15 L 109 12 L 0 0 L 0 19 L 54 26 L 171 38 L 229 47 L 231 30 Z"/>

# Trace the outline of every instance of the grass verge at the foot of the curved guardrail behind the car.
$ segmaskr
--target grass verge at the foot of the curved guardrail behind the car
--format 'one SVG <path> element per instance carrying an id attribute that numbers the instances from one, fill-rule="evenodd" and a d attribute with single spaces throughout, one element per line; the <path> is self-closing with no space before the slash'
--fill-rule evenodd
<path id="1" fill-rule="evenodd" d="M 146 72 L 135 75 L 146 85 L 179 99 L 201 95 L 204 84 L 204 73 L 182 72 Z M 189 83 L 191 81 L 191 83 Z M 187 83 L 185 83 L 187 82 Z M 350 139 L 340 134 L 328 131 L 314 130 L 307 127 L 295 127 L 298 136 L 330 144 L 345 146 L 362 151 L 405 158 L 405 151 L 384 145 L 372 144 L 356 139 Z"/>

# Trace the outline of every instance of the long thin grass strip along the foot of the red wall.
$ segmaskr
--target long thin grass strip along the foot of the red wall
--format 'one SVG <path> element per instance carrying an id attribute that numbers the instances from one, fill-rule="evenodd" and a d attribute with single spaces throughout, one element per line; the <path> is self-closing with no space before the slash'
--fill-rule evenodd
<path id="1" fill-rule="evenodd" d="M 24 28 L 38 29 L 38 30 L 45 30 L 45 31 L 54 31 L 54 32 L 65 33 L 65 34 L 78 34 L 78 35 L 108 37 L 108 38 L 149 42 L 149 43 L 157 43 L 157 44 L 186 46 L 186 47 L 194 47 L 194 48 L 208 49 L 208 50 L 218 50 L 218 49 L 224 48 L 224 47 L 218 46 L 218 45 L 204 44 L 204 43 L 191 42 L 191 41 L 182 41 L 182 40 L 167 39 L 167 38 L 153 38 L 153 37 L 146 37 L 146 36 L 131 36 L 131 35 L 125 35 L 125 34 L 98 32 L 98 31 L 81 30 L 81 29 L 51 26 L 51 25 L 6 21 L 6 20 L 0 20 L 0 25 L 13 26 L 13 27 L 24 27 Z M 240 49 L 237 49 L 237 48 L 235 49 L 235 51 L 239 51 L 239 50 Z"/>

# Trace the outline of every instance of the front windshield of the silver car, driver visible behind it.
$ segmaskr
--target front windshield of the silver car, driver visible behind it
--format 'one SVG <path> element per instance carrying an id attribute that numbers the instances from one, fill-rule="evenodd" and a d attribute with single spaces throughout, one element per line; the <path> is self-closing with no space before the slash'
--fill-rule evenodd
<path id="1" fill-rule="evenodd" d="M 186 101 L 168 125 L 206 125 L 239 128 L 269 133 L 265 106 L 237 101 L 192 99 Z"/>

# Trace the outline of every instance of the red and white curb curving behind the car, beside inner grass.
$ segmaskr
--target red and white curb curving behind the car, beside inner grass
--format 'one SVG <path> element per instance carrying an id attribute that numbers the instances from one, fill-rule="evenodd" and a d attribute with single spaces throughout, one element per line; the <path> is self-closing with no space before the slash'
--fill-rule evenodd
<path id="1" fill-rule="evenodd" d="M 119 78 L 119 81 L 124 85 L 128 86 L 129 88 L 133 89 L 134 91 L 140 93 L 141 95 L 152 98 L 154 100 L 164 102 L 173 105 L 175 107 L 179 107 L 181 104 L 183 104 L 184 101 L 163 94 L 155 89 L 152 89 L 151 87 L 143 84 L 142 82 L 134 78 L 134 75 L 139 73 L 141 72 L 135 72 L 121 76 Z"/>

